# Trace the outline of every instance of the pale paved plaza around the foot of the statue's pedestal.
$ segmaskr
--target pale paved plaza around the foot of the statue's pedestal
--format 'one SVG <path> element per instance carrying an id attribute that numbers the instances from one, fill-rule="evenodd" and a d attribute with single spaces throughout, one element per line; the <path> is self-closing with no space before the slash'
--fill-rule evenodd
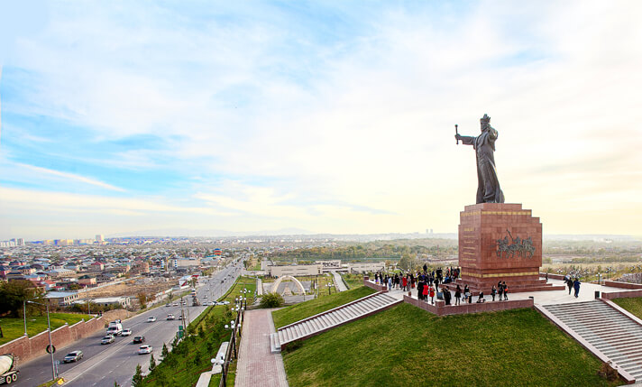
<path id="1" fill-rule="evenodd" d="M 548 283 L 553 285 L 564 285 L 562 280 L 553 280 L 549 279 Z M 510 289 L 510 282 L 507 281 Z M 528 299 L 528 297 L 533 297 L 536 304 L 539 305 L 555 305 L 555 304 L 567 304 L 571 302 L 585 302 L 595 299 L 595 291 L 600 292 L 610 292 L 610 291 L 627 291 L 622 288 L 613 288 L 610 286 L 597 285 L 594 283 L 582 282 L 580 285 L 580 294 L 576 299 L 574 297 L 574 290 L 571 291 L 571 295 L 568 294 L 568 289 L 566 290 L 545 290 L 545 291 L 527 291 L 523 293 L 509 293 L 509 299 Z M 407 291 L 402 290 L 390 290 L 390 296 L 396 299 L 403 299 L 404 294 L 408 294 Z M 454 291 L 451 291 L 452 301 L 454 303 Z M 417 288 L 412 290 L 412 298 L 417 299 Z M 489 294 L 484 295 L 486 302 L 491 301 L 491 296 Z M 495 298 L 498 299 L 498 298 Z M 477 301 L 477 297 L 472 297 L 472 302 Z M 498 302 L 498 301 L 495 301 Z"/>

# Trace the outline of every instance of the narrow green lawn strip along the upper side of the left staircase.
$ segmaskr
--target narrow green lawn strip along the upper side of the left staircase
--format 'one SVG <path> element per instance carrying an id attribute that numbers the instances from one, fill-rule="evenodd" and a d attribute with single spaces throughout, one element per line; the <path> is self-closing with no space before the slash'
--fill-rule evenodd
<path id="1" fill-rule="evenodd" d="M 310 299 L 309 301 L 301 302 L 300 304 L 275 310 L 272 312 L 274 327 L 285 327 L 302 318 L 314 316 L 317 313 L 336 308 L 346 302 L 353 301 L 354 299 L 361 299 L 362 297 L 372 293 L 374 293 L 374 290 L 362 286 L 353 290 L 342 291 L 341 293 L 332 293 L 330 296 L 319 299 Z"/>

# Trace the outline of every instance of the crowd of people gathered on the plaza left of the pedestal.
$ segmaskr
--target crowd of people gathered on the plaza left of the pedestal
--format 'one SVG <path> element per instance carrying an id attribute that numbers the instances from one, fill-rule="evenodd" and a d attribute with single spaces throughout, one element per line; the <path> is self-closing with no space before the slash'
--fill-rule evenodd
<path id="1" fill-rule="evenodd" d="M 382 273 L 376 272 L 374 274 L 374 281 L 377 284 L 383 285 L 387 290 L 403 290 L 412 291 L 417 288 L 417 299 L 425 302 L 435 304 L 435 299 L 443 299 L 445 305 L 451 305 L 452 295 L 444 284 L 455 281 L 459 278 L 460 269 L 447 267 L 444 269 L 438 268 L 433 271 L 428 271 L 426 265 L 423 267 L 424 271 L 417 271 L 417 273 Z M 497 286 L 493 285 L 491 289 L 492 300 L 499 297 L 498 301 L 509 299 L 509 287 L 506 281 L 497 282 Z M 454 290 L 454 305 L 461 305 L 463 303 L 472 303 L 472 292 L 468 285 L 464 285 L 463 290 L 460 285 L 457 285 Z M 483 291 L 477 297 L 476 303 L 486 302 Z"/>

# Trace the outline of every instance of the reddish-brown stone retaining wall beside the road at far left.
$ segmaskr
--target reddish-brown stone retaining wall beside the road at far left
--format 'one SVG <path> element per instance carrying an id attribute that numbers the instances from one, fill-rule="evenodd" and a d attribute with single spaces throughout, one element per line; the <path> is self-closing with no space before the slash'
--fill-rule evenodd
<path id="1" fill-rule="evenodd" d="M 76 340 L 89 336 L 99 329 L 105 328 L 103 318 L 92 318 L 89 321 L 81 320 L 69 327 L 65 324 L 62 327 L 51 331 L 51 342 L 56 350 L 75 342 Z M 47 331 L 36 336 L 22 336 L 0 346 L 0 354 L 13 354 L 18 359 L 18 364 L 46 355 L 49 346 L 49 334 Z"/>

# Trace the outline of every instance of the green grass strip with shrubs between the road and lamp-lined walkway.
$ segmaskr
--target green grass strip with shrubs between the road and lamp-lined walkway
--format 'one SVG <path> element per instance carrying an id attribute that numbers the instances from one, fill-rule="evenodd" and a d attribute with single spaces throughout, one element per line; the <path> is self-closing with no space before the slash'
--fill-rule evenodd
<path id="1" fill-rule="evenodd" d="M 256 289 L 256 280 L 249 277 L 240 277 L 225 296 L 218 300 L 226 299 L 234 305 L 234 298 L 240 296 L 243 289 L 250 290 L 247 293 L 251 296 L 247 297 L 249 305 L 253 302 Z M 188 332 L 193 332 L 195 335 L 186 337 L 173 348 L 168 358 L 145 378 L 143 385 L 181 387 L 195 385 L 201 373 L 211 371 L 212 364 L 209 361 L 216 355 L 221 343 L 230 340 L 231 331 L 225 330 L 224 326 L 234 318 L 236 314 L 228 306 L 207 307 L 189 324 Z M 171 348 L 170 343 L 167 343 L 167 346 Z M 158 352 L 154 351 L 155 356 L 161 356 L 161 348 L 158 348 Z M 228 385 L 234 385 L 234 376 L 230 377 L 232 380 L 228 380 Z"/>

